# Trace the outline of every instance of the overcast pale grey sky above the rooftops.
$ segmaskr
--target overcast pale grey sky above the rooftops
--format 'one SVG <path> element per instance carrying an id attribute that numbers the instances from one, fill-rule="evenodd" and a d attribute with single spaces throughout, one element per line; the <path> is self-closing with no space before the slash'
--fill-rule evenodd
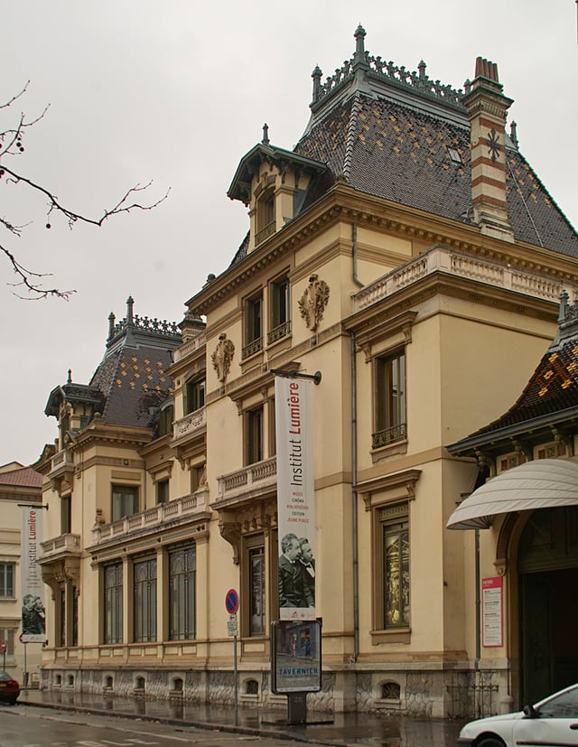
<path id="1" fill-rule="evenodd" d="M 522 154 L 578 225 L 578 44 L 574 0 L 21 0 L 3 5 L 0 102 L 30 85 L 0 127 L 21 111 L 42 121 L 25 138 L 17 170 L 92 218 L 128 187 L 154 180 L 148 212 L 101 228 L 51 217 L 22 185 L 0 182 L 0 216 L 27 223 L 0 243 L 24 266 L 51 272 L 70 301 L 21 301 L 0 256 L 0 465 L 34 462 L 56 437 L 44 415 L 51 389 L 88 384 L 102 359 L 110 312 L 180 322 L 184 302 L 222 272 L 248 228 L 226 192 L 240 158 L 269 126 L 293 148 L 307 124 L 311 73 L 366 49 L 462 88 L 478 55 L 498 63 L 515 99 Z M 1 229 L 1 227 L 0 227 Z"/>

